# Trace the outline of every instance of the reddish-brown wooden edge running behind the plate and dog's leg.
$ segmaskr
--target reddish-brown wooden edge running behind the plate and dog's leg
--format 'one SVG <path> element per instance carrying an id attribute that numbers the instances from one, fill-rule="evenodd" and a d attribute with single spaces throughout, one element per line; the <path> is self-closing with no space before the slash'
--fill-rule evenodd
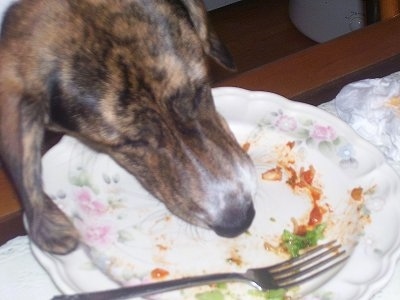
<path id="1" fill-rule="evenodd" d="M 399 71 L 399 32 L 400 17 L 396 17 L 240 73 L 216 86 L 272 91 L 319 104 L 332 99 L 350 81 Z M 23 230 L 18 202 L 2 170 L 0 192 L 1 244 Z"/>

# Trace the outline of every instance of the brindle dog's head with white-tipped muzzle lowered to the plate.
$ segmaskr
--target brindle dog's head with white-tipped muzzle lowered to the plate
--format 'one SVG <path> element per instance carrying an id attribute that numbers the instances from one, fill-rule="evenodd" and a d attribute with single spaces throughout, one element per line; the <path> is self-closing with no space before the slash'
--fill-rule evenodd
<path id="1" fill-rule="evenodd" d="M 234 65 L 202 1 L 37 2 L 48 15 L 31 13 L 19 59 L 45 125 L 108 153 L 183 220 L 244 232 L 254 166 L 213 102 L 206 55 Z"/>

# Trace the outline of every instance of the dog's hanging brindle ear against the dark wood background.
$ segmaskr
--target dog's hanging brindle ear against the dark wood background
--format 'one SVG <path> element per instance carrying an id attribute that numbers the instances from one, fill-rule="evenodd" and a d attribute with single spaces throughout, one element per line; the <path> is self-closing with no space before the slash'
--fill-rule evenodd
<path id="1" fill-rule="evenodd" d="M 203 43 L 205 53 L 223 67 L 235 71 L 236 66 L 231 54 L 208 23 L 203 0 L 181 0 L 181 2 L 189 13 L 193 27 Z"/>

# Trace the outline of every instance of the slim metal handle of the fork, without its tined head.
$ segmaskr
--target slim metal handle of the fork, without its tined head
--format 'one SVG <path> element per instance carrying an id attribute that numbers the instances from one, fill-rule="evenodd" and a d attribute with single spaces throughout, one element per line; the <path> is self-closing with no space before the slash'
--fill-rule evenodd
<path id="1" fill-rule="evenodd" d="M 248 279 L 246 279 L 240 273 L 221 273 L 197 277 L 187 277 L 182 279 L 173 279 L 168 281 L 161 281 L 100 292 L 61 295 L 53 297 L 52 300 L 122 300 L 133 297 L 146 297 L 153 294 L 160 294 L 178 289 L 227 281 L 248 282 Z"/>

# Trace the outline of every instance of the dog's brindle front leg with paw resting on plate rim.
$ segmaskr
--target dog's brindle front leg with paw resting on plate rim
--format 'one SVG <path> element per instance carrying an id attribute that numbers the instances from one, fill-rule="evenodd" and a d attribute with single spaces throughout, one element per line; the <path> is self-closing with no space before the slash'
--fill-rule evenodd
<path id="1" fill-rule="evenodd" d="M 79 236 L 43 191 L 44 99 L 24 92 L 22 81 L 10 70 L 0 49 L 0 155 L 22 201 L 30 237 L 45 251 L 65 254 L 76 248 Z"/>

